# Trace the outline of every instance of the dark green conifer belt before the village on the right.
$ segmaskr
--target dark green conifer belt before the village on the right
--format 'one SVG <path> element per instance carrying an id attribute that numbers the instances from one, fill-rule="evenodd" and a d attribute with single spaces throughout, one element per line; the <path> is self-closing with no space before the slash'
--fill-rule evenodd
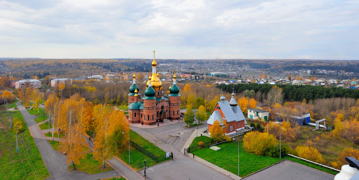
<path id="1" fill-rule="evenodd" d="M 245 90 L 254 90 L 256 93 L 260 91 L 265 95 L 274 85 L 270 84 L 236 84 L 236 85 L 225 85 L 221 84 L 217 87 L 223 91 L 230 93 L 234 87 L 235 91 L 242 93 Z M 358 89 L 347 89 L 340 87 L 324 87 L 324 86 L 311 86 L 311 85 L 276 85 L 283 89 L 283 99 L 285 101 L 303 101 L 303 99 L 315 100 L 319 98 L 354 98 L 359 99 Z"/>

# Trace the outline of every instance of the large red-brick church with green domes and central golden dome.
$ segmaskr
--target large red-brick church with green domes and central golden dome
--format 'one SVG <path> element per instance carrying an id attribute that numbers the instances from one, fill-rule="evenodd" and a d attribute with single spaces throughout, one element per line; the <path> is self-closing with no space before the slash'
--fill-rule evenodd
<path id="1" fill-rule="evenodd" d="M 176 85 L 176 75 L 173 76 L 173 85 L 169 88 L 169 95 L 162 91 L 162 82 L 158 79 L 156 69 L 155 51 L 153 51 L 152 75 L 149 76 L 145 95 L 140 97 L 139 87 L 136 85 L 136 76 L 132 76 L 133 82 L 130 86 L 129 95 L 129 123 L 142 123 L 154 125 L 163 122 L 164 119 L 174 120 L 180 118 L 180 89 Z"/>

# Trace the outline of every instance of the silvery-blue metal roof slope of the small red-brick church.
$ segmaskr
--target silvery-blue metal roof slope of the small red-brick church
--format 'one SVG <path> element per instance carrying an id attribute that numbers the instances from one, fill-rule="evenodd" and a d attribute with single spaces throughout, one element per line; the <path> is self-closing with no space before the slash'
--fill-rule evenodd
<path id="1" fill-rule="evenodd" d="M 228 101 L 218 101 L 217 103 L 218 103 L 219 107 L 221 108 L 222 113 L 227 122 L 232 122 L 234 120 L 240 121 L 240 120 L 246 119 L 246 118 L 244 118 L 242 110 L 239 106 L 233 106 L 234 108 L 232 109 L 232 107 L 229 105 Z M 234 110 L 236 111 L 236 113 L 233 112 Z"/>

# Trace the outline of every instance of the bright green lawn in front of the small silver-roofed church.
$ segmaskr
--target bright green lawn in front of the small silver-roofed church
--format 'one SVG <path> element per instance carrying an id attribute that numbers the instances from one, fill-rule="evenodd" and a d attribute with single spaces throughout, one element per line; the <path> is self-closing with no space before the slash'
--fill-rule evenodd
<path id="1" fill-rule="evenodd" d="M 198 143 L 199 140 L 196 140 L 196 142 Z M 193 144 L 195 144 L 196 142 L 194 142 Z M 211 150 L 210 148 L 203 148 L 195 151 L 194 153 L 196 156 L 237 175 L 238 174 L 238 142 L 237 141 L 224 142 L 216 146 L 220 147 L 221 150 L 214 151 Z M 330 174 L 337 173 L 329 169 L 323 168 L 321 166 L 310 164 L 308 162 L 293 157 L 282 157 L 280 159 L 278 157 L 258 156 L 251 153 L 247 153 L 242 147 L 242 140 L 239 140 L 239 167 L 240 167 L 239 176 L 241 177 L 252 174 L 253 172 L 256 172 L 267 166 L 275 164 L 276 162 L 279 162 L 285 158 L 291 161 L 298 162 L 300 164 L 313 167 L 318 170 L 328 172 Z"/>

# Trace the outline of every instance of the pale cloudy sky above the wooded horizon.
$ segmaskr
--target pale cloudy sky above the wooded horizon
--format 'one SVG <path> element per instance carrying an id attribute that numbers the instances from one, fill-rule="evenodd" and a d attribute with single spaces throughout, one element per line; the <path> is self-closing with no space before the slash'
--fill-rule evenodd
<path id="1" fill-rule="evenodd" d="M 0 0 L 0 57 L 359 60 L 359 1 Z"/>

